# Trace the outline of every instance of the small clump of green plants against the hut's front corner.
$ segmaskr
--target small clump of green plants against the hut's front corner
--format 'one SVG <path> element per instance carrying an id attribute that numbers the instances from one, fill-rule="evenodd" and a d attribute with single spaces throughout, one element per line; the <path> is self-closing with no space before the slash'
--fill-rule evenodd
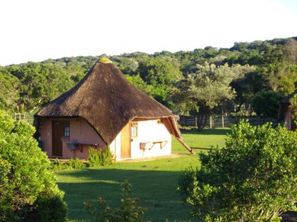
<path id="1" fill-rule="evenodd" d="M 114 162 L 114 155 L 108 147 L 104 149 L 89 148 L 89 166 L 105 166 Z"/>

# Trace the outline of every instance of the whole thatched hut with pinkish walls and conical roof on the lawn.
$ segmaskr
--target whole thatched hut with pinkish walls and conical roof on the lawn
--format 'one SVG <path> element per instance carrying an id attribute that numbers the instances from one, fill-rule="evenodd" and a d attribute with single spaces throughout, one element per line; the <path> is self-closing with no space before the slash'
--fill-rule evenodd
<path id="1" fill-rule="evenodd" d="M 183 143 L 172 112 L 129 83 L 107 58 L 42 107 L 34 125 L 49 157 L 87 159 L 89 147 L 109 147 L 116 160 L 136 159 L 171 154 L 171 134 Z"/>

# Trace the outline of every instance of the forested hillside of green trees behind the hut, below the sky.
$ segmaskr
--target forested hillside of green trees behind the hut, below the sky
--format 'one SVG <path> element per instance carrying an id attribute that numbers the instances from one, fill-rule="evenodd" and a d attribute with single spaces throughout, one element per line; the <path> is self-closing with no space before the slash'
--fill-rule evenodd
<path id="1" fill-rule="evenodd" d="M 36 112 L 76 85 L 99 57 L 0 66 L 0 109 Z M 278 101 L 297 84 L 297 37 L 109 58 L 131 83 L 177 114 L 230 113 L 250 104 L 258 115 L 276 117 Z"/>

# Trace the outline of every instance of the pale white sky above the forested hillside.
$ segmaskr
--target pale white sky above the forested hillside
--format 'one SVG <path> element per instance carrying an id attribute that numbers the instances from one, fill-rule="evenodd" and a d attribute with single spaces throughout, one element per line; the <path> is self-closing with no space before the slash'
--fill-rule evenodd
<path id="1" fill-rule="evenodd" d="M 297 0 L 0 0 L 0 65 L 297 36 Z"/>

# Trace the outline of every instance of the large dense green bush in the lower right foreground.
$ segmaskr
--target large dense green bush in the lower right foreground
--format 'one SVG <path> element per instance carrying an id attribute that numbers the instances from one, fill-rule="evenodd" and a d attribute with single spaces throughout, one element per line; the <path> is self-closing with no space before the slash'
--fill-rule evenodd
<path id="1" fill-rule="evenodd" d="M 271 123 L 234 125 L 226 147 L 200 154 L 178 191 L 204 221 L 280 221 L 296 210 L 297 134 Z"/>

